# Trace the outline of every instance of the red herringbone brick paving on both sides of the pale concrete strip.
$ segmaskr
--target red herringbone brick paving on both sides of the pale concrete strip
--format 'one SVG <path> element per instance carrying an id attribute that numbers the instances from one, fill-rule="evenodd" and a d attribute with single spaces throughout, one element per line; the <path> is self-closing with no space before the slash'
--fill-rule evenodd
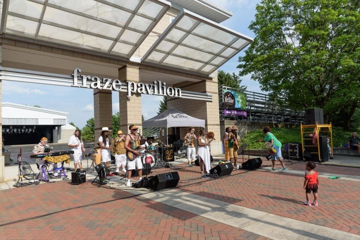
<path id="1" fill-rule="evenodd" d="M 199 167 L 185 164 L 154 173 L 173 170 L 180 174 L 177 190 L 360 235 L 358 181 L 321 177 L 319 206 L 310 207 L 302 204 L 302 176 L 234 170 L 220 179 L 206 179 L 200 177 Z M 1 195 L 0 239 L 266 239 L 141 195 L 90 183 L 60 181 L 3 190 Z"/>

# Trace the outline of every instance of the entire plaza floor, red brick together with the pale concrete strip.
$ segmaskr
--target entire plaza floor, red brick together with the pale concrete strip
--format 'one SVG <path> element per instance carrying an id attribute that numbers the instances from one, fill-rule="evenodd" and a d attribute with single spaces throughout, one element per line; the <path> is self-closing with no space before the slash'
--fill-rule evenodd
<path id="1" fill-rule="evenodd" d="M 271 171 L 270 164 L 263 160 L 261 169 L 219 179 L 200 177 L 198 166 L 185 163 L 153 169 L 151 175 L 180 175 L 176 188 L 153 193 L 125 187 L 118 176 L 101 187 L 88 179 L 2 190 L 0 239 L 360 239 L 359 168 L 319 165 L 319 205 L 305 206 L 304 162 L 287 161 L 285 172 Z M 287 224 L 292 221 L 304 229 Z M 312 230 L 320 226 L 324 232 Z"/>

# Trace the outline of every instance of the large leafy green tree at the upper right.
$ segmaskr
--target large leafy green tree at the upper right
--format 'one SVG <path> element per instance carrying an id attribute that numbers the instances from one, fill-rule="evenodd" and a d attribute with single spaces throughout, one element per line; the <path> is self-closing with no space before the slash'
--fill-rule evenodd
<path id="1" fill-rule="evenodd" d="M 360 104 L 359 7 L 358 0 L 262 0 L 240 76 L 251 74 L 293 109 L 321 107 L 328 122 L 349 129 Z"/>

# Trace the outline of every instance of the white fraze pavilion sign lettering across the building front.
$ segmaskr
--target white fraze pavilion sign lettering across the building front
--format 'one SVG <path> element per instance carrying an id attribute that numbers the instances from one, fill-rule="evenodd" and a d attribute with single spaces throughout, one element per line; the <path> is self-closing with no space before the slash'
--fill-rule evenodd
<path id="1" fill-rule="evenodd" d="M 81 75 L 80 72 L 80 68 L 75 68 L 73 74 L 71 74 L 73 76 L 72 86 L 127 91 L 128 97 L 131 97 L 133 93 L 181 97 L 181 89 L 171 86 L 167 87 L 166 82 L 153 81 L 153 84 L 134 81 L 121 82 L 119 79 Z"/>

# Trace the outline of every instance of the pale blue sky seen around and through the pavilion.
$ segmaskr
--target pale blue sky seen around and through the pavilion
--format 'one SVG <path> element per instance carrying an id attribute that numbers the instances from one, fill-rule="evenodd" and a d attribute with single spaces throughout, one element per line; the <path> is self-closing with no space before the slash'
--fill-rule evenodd
<path id="1" fill-rule="evenodd" d="M 252 38 L 255 37 L 254 33 L 248 29 L 248 26 L 254 20 L 255 7 L 260 0 L 209 1 L 233 13 L 233 16 L 221 22 L 221 25 Z M 228 60 L 219 69 L 238 73 L 236 66 L 238 65 L 238 57 L 242 55 L 244 55 L 244 50 Z M 247 86 L 247 90 L 261 92 L 259 83 L 251 80 L 250 75 L 243 76 L 241 79 L 241 84 Z M 88 119 L 94 117 L 92 89 L 3 81 L 2 91 L 3 102 L 31 106 L 39 105 L 43 108 L 68 112 L 68 123 L 74 122 L 80 128 L 86 125 Z M 113 113 L 115 113 L 119 111 L 119 95 L 113 92 L 112 98 Z M 162 98 L 162 96 L 142 95 L 142 113 L 145 119 L 157 115 L 156 112 Z"/>

